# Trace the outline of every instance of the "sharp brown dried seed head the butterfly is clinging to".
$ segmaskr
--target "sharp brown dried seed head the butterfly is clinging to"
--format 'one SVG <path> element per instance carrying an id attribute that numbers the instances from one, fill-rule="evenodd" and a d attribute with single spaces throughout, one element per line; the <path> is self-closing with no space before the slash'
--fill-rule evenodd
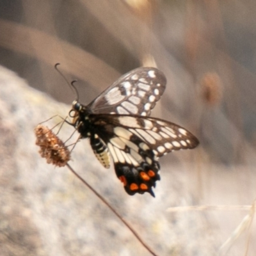
<path id="1" fill-rule="evenodd" d="M 46 158 L 47 163 L 65 166 L 70 160 L 70 151 L 63 141 L 44 125 L 37 125 L 35 134 L 36 145 L 40 147 L 39 153 Z"/>

